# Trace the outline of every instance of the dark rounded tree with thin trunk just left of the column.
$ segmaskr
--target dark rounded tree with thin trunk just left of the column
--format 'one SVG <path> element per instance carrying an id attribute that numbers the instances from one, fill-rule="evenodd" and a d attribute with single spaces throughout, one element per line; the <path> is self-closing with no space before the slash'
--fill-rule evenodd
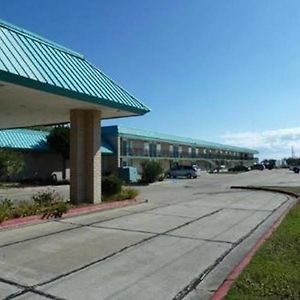
<path id="1" fill-rule="evenodd" d="M 47 136 L 49 148 L 59 153 L 63 158 L 62 178 L 66 179 L 66 162 L 70 158 L 70 128 L 66 126 L 56 126 Z"/>

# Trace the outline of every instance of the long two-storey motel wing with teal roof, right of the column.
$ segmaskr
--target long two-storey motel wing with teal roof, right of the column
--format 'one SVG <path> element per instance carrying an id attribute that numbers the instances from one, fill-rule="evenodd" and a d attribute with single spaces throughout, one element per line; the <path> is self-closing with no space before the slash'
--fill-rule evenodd
<path id="1" fill-rule="evenodd" d="M 176 165 L 198 165 L 209 171 L 220 166 L 251 166 L 257 162 L 254 155 L 258 151 L 248 148 L 123 126 L 102 127 L 102 133 L 113 146 L 110 169 L 132 166 L 141 173 L 145 160 L 159 161 L 164 171 Z"/>

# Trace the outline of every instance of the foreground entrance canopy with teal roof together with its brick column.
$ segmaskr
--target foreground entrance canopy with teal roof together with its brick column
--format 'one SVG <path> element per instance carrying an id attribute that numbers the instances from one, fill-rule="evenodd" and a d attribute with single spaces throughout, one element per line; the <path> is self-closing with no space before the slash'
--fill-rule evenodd
<path id="1" fill-rule="evenodd" d="M 70 199 L 101 201 L 101 120 L 149 108 L 81 54 L 0 20 L 0 129 L 70 123 Z"/>

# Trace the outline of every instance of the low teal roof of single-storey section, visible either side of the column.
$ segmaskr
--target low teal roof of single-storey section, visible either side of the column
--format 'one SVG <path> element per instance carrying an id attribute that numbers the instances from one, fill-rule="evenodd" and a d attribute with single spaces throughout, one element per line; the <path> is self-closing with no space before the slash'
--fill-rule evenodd
<path id="1" fill-rule="evenodd" d="M 0 148 L 16 150 L 49 151 L 47 145 L 48 131 L 30 129 L 0 130 Z M 109 143 L 102 138 L 101 153 L 112 154 Z"/>

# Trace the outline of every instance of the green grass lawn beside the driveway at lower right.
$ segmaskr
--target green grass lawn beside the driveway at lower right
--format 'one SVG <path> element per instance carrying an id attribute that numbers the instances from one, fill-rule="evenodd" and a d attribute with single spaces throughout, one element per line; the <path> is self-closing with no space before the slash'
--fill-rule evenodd
<path id="1" fill-rule="evenodd" d="M 300 195 L 300 187 L 274 187 Z M 300 203 L 258 250 L 225 299 L 300 299 Z"/>

